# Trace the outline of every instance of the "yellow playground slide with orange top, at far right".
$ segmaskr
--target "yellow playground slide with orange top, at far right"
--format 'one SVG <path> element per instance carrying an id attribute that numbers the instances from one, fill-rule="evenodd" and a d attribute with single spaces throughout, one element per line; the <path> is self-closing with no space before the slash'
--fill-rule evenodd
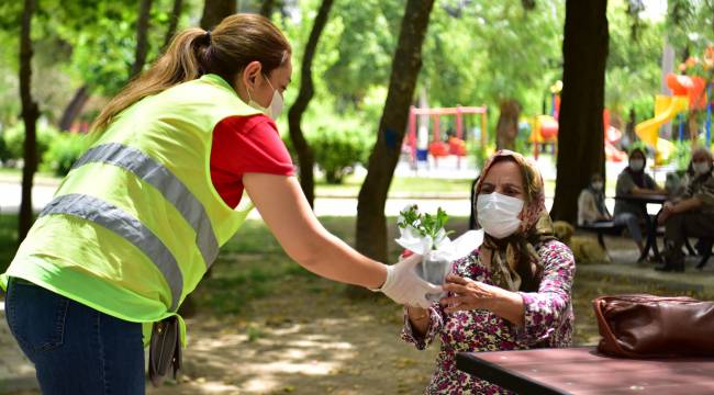
<path id="1" fill-rule="evenodd" d="M 704 93 L 706 82 L 701 77 L 678 76 L 670 72 L 667 75 L 666 81 L 672 95 L 657 94 L 655 97 L 655 117 L 635 126 L 637 136 L 655 148 L 655 163 L 658 165 L 662 163 L 674 149 L 670 142 L 659 137 L 659 127 L 687 110 L 701 110 L 706 105 L 706 93 Z M 711 109 L 709 111 L 711 113 Z M 711 129 L 711 125 L 707 126 L 709 129 Z M 710 133 L 707 132 L 707 135 Z M 682 131 L 680 131 L 680 138 L 681 134 Z M 709 139 L 710 136 L 707 136 Z"/>

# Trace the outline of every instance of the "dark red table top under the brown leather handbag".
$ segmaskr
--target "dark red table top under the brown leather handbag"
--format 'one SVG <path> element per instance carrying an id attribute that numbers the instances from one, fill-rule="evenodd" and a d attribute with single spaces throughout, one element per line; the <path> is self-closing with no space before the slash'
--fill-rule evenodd
<path id="1" fill-rule="evenodd" d="M 618 359 L 592 347 L 461 352 L 458 369 L 522 394 L 714 394 L 714 358 Z"/>

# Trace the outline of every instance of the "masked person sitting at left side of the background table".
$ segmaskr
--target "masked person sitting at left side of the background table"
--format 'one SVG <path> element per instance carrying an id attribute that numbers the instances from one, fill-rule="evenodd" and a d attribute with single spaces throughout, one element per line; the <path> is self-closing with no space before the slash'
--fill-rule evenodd
<path id="1" fill-rule="evenodd" d="M 629 151 L 629 166 L 617 176 L 617 184 L 615 185 L 617 196 L 665 193 L 662 189 L 657 187 L 655 180 L 645 173 L 646 163 L 647 156 L 642 148 L 633 148 Z M 623 200 L 615 201 L 615 225 L 627 226 L 629 237 L 635 240 L 640 253 L 645 250 L 645 245 L 643 244 L 643 232 L 639 228 L 639 223 L 647 215 L 645 205 Z"/>

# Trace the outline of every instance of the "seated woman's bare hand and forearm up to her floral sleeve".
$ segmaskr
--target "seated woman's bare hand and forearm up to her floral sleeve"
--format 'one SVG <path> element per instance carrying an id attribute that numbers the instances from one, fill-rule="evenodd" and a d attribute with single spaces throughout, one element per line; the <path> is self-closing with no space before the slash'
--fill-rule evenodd
<path id="1" fill-rule="evenodd" d="M 453 294 L 439 301 L 446 313 L 487 309 L 517 326 L 524 325 L 525 305 L 523 297 L 516 292 L 456 274 L 447 275 L 442 287 Z"/>

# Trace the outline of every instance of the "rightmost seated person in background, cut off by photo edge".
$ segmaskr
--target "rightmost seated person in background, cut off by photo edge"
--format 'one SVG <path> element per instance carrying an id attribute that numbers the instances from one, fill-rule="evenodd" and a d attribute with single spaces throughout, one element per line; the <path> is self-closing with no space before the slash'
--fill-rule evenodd
<path id="1" fill-rule="evenodd" d="M 687 237 L 714 237 L 714 176 L 712 153 L 696 148 L 692 153 L 693 177 L 682 196 L 665 203 L 658 222 L 665 225 L 665 266 L 661 271 L 684 271 L 682 246 Z"/>

